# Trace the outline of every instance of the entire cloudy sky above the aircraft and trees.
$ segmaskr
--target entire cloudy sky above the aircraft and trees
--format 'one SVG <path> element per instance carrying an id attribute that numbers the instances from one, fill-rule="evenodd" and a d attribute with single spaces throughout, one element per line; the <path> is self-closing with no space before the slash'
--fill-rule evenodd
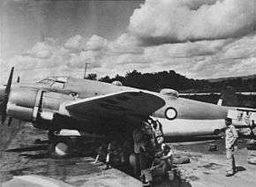
<path id="1" fill-rule="evenodd" d="M 256 73 L 255 0 L 2 0 L 0 83 L 174 70 Z"/>

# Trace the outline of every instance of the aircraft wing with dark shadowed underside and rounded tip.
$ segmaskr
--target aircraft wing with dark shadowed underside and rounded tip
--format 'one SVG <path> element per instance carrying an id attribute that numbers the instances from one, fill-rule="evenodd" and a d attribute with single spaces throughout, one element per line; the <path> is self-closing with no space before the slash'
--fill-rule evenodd
<path id="1" fill-rule="evenodd" d="M 149 116 L 165 101 L 151 93 L 121 92 L 72 101 L 65 108 L 72 116 L 122 119 L 125 116 Z"/>

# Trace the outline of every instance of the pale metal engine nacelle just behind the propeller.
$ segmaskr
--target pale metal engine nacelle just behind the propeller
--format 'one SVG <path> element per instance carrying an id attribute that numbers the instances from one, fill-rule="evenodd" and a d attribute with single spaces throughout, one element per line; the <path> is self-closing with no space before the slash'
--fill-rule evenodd
<path id="1" fill-rule="evenodd" d="M 49 123 L 58 112 L 61 103 L 74 99 L 64 93 L 17 88 L 11 90 L 6 112 L 8 116 L 35 123 L 36 127 L 41 128 L 37 123 Z"/>

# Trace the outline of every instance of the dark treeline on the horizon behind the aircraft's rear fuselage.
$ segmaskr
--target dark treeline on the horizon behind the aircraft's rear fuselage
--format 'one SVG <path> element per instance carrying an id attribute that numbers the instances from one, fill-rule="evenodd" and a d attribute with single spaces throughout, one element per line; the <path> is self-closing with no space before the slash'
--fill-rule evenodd
<path id="1" fill-rule="evenodd" d="M 96 79 L 97 75 L 91 73 L 87 79 Z M 212 93 L 222 92 L 227 86 L 232 86 L 237 92 L 256 91 L 256 77 L 242 79 L 222 79 L 220 81 L 209 81 L 207 79 L 188 79 L 176 71 L 160 71 L 154 73 L 141 73 L 139 71 L 129 71 L 125 76 L 117 75 L 114 78 L 109 76 L 98 79 L 102 82 L 111 83 L 115 80 L 122 82 L 124 86 L 132 86 L 159 92 L 162 88 L 171 88 L 179 93 Z"/>

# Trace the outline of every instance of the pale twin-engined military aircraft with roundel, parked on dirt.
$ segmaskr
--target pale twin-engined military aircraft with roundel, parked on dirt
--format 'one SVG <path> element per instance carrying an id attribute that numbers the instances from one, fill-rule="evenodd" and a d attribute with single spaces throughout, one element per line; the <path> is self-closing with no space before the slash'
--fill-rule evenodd
<path id="1" fill-rule="evenodd" d="M 165 137 L 213 135 L 224 127 L 228 111 L 237 109 L 180 98 L 169 88 L 155 93 L 118 81 L 109 84 L 56 76 L 11 84 L 13 70 L 0 91 L 2 123 L 10 116 L 49 134 L 67 129 L 92 137 L 122 137 L 152 116 L 162 123 Z"/>

